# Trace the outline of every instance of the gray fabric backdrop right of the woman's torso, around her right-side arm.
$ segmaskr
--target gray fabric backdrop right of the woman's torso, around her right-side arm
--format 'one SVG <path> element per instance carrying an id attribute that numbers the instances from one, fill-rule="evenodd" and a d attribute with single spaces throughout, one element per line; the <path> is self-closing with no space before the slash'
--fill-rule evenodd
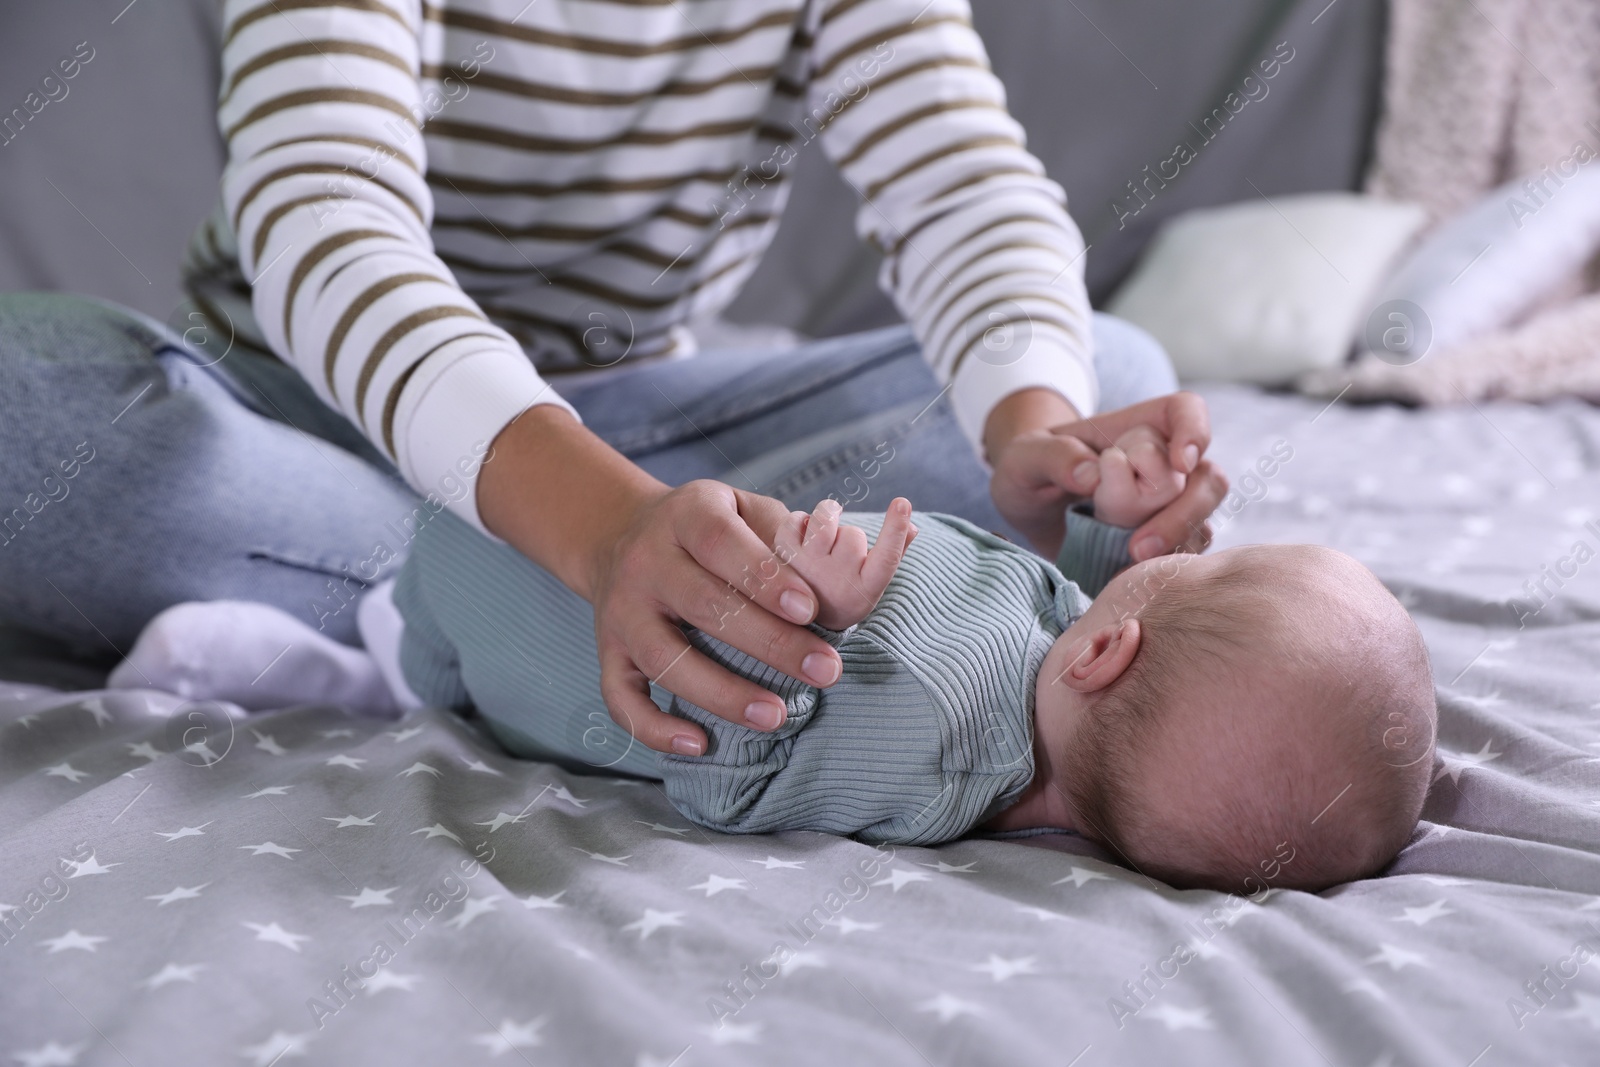
<path id="1" fill-rule="evenodd" d="M 1090 245 L 1096 306 L 1179 211 L 1357 189 L 1381 99 L 1386 16 L 1382 0 L 973 3 L 1029 149 L 1067 190 Z M 1195 126 L 1280 42 L 1294 58 L 1205 142 Z M 1144 168 L 1158 168 L 1179 141 L 1197 158 L 1118 226 L 1112 202 L 1130 197 L 1128 182 L 1142 182 Z M 816 336 L 896 322 L 877 288 L 878 256 L 854 237 L 854 205 L 808 146 L 778 240 L 728 317 Z"/>

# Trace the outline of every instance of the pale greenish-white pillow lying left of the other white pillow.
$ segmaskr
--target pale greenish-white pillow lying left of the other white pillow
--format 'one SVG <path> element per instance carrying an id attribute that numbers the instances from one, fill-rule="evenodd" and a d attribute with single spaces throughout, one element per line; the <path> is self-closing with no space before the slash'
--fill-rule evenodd
<path id="1" fill-rule="evenodd" d="M 1166 346 L 1179 378 L 1280 386 L 1341 363 L 1422 208 L 1349 192 L 1189 211 L 1106 310 Z"/>

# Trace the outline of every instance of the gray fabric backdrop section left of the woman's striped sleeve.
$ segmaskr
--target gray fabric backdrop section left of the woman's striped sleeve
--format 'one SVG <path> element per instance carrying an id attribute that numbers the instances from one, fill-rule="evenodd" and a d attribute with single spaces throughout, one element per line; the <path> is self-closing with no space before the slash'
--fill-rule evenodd
<path id="1" fill-rule="evenodd" d="M 178 266 L 218 198 L 216 0 L 50 0 L 0 13 L 0 290 L 104 296 L 184 322 Z M 78 45 L 77 77 L 40 91 Z M 0 138 L 3 139 L 3 138 Z M 190 323 L 184 322 L 184 326 Z"/>

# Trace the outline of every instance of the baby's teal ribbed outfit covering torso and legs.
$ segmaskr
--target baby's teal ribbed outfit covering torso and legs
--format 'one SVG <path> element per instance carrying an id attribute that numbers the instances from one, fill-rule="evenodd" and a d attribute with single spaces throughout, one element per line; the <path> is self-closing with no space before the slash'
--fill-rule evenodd
<path id="1" fill-rule="evenodd" d="M 419 694 L 450 696 L 458 670 L 512 752 L 659 777 L 672 803 L 709 829 L 950 840 L 1032 779 L 1038 670 L 1088 600 L 1045 560 L 960 518 L 915 520 L 917 541 L 867 619 L 843 633 L 818 630 L 845 664 L 829 689 L 686 630 L 789 709 L 779 729 L 760 733 L 656 686 L 661 707 L 706 728 L 704 757 L 658 755 L 611 723 L 589 605 L 448 514 L 419 533 L 395 589 L 403 673 Z M 875 536 L 882 517 L 846 522 Z"/>

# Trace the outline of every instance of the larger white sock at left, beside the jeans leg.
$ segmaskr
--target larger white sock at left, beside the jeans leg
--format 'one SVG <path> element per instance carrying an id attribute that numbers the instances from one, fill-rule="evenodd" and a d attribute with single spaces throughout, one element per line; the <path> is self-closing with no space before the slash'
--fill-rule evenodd
<path id="1" fill-rule="evenodd" d="M 165 689 L 250 710 L 326 702 L 365 715 L 400 712 L 371 656 L 245 600 L 190 601 L 160 613 L 107 688 Z"/>

